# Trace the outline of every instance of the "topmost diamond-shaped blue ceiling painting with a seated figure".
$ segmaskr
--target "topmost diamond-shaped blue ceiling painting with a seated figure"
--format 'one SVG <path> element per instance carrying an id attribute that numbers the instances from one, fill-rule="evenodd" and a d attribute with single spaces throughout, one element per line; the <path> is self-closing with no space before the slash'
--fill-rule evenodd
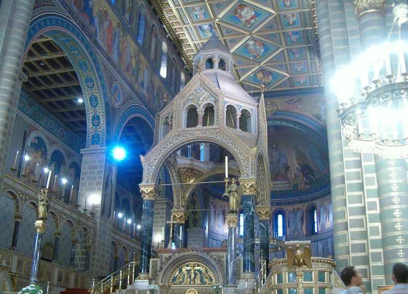
<path id="1" fill-rule="evenodd" d="M 240 1 L 222 17 L 222 20 L 241 29 L 251 31 L 269 16 L 272 16 L 271 12 L 248 2 Z"/>

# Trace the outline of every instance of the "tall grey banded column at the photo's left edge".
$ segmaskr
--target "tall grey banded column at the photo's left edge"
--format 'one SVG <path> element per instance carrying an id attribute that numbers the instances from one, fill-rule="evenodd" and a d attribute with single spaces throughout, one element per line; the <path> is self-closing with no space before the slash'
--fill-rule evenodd
<path id="1" fill-rule="evenodd" d="M 7 156 L 17 110 L 25 41 L 35 0 L 3 0 L 0 10 L 0 186 L 3 187 Z"/>

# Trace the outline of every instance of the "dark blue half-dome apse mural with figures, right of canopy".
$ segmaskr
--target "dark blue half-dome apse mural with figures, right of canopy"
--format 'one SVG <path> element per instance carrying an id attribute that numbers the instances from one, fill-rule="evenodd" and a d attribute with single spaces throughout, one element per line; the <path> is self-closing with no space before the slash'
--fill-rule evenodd
<path id="1" fill-rule="evenodd" d="M 307 133 L 287 126 L 269 126 L 268 152 L 272 196 L 300 196 L 328 184 L 326 147 Z"/>

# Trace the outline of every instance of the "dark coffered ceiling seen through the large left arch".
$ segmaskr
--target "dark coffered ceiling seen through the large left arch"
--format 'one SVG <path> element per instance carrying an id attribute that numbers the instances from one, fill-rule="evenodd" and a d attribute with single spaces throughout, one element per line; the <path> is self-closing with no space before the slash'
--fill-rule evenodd
<path id="1" fill-rule="evenodd" d="M 39 36 L 23 64 L 28 81 L 23 89 L 69 129 L 86 140 L 86 113 L 81 85 L 65 52 L 53 40 Z"/>

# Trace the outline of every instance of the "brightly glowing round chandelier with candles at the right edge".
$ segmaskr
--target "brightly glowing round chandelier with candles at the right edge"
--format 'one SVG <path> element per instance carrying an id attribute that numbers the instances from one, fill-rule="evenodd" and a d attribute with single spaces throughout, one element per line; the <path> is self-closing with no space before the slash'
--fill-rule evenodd
<path id="1" fill-rule="evenodd" d="M 339 99 L 348 147 L 403 158 L 408 157 L 408 44 L 401 38 L 401 25 L 408 21 L 408 5 L 395 3 L 393 13 L 387 42 L 369 48 L 337 71 L 331 86 Z"/>

